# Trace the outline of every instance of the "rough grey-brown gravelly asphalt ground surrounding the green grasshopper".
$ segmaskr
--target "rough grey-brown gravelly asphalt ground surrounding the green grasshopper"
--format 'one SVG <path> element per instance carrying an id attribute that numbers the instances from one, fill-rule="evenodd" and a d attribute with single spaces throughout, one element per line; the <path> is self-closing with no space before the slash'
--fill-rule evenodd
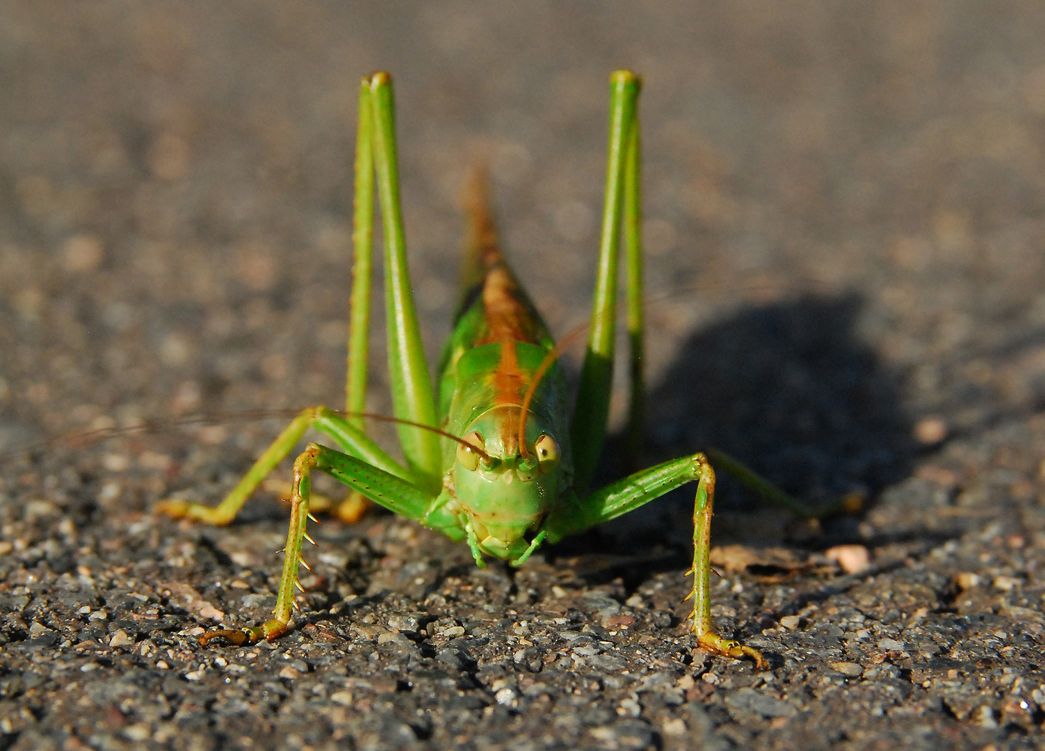
<path id="1" fill-rule="evenodd" d="M 1041 747 L 1043 37 L 1006 1 L 0 4 L 0 749 Z M 587 314 L 623 66 L 649 461 L 867 498 L 722 480 L 713 612 L 771 670 L 687 633 L 690 491 L 517 571 L 325 521 L 297 629 L 202 648 L 266 617 L 285 506 L 149 510 L 285 422 L 180 418 L 343 398 L 359 76 L 396 76 L 434 357 L 479 157 L 552 327 Z"/>

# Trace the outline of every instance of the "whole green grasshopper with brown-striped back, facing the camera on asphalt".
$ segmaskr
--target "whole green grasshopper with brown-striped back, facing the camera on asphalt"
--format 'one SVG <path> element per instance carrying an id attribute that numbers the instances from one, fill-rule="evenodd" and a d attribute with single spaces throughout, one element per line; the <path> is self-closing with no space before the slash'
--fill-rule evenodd
<path id="1" fill-rule="evenodd" d="M 694 581 L 688 597 L 693 599 L 693 633 L 709 652 L 748 657 L 757 666 L 766 666 L 758 650 L 724 638 L 712 624 L 709 550 L 715 471 L 707 457 L 695 453 L 635 472 L 599 490 L 588 487 L 606 436 L 621 244 L 625 250 L 631 349 L 631 431 L 636 432 L 642 422 L 640 87 L 640 79 L 630 71 L 610 76 L 609 159 L 599 271 L 579 393 L 568 420 L 565 376 L 558 363 L 565 341 L 557 346 L 552 339 L 505 262 L 486 204 L 479 198 L 471 209 L 464 297 L 442 352 L 437 404 L 407 267 L 392 81 L 387 73 L 363 79 L 346 413 L 326 407 L 302 412 L 218 507 L 182 500 L 160 507 L 171 516 L 227 524 L 306 429 L 325 433 L 340 447 L 309 443 L 294 463 L 291 529 L 273 619 L 257 627 L 212 631 L 205 640 L 220 636 L 241 644 L 275 639 L 289 629 L 295 587 L 300 587 L 302 540 L 311 539 L 305 527 L 314 470 L 326 472 L 373 502 L 455 541 L 465 540 L 480 566 L 484 556 L 519 566 L 543 542 L 554 543 L 583 532 L 696 482 Z M 385 228 L 394 422 L 405 466 L 377 446 L 364 427 L 364 418 L 369 417 L 364 413 L 364 401 L 375 179 Z M 748 485 L 782 499 L 780 491 L 749 470 L 727 457 L 722 462 Z M 782 500 L 793 506 L 793 501 Z"/>

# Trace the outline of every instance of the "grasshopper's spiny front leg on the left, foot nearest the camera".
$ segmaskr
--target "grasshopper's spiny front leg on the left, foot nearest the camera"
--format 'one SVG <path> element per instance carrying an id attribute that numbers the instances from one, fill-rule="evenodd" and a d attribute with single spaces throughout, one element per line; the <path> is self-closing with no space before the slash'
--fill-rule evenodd
<path id="1" fill-rule="evenodd" d="M 308 444 L 304 452 L 294 462 L 291 527 L 286 535 L 283 573 L 279 580 L 279 592 L 272 619 L 261 626 L 211 631 L 200 637 L 201 643 L 206 644 L 217 637 L 226 638 L 234 644 L 258 641 L 259 639 L 271 641 L 282 636 L 289 629 L 291 616 L 297 607 L 294 602 L 295 590 L 301 589 L 301 584 L 298 582 L 298 566 L 303 563 L 301 546 L 305 539 L 311 542 L 306 525 L 308 523 L 308 498 L 314 469 L 326 472 L 334 479 L 359 491 L 375 503 L 409 519 L 421 521 L 431 515 L 435 498 L 416 486 L 385 470 L 372 467 L 354 456 L 317 443 Z M 432 524 L 429 523 L 429 525 Z M 302 591 L 304 590 L 302 589 Z"/>

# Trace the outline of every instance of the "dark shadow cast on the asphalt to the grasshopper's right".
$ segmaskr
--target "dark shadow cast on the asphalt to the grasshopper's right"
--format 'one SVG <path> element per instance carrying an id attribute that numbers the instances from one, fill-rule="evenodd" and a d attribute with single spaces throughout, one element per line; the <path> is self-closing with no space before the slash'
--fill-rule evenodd
<path id="1" fill-rule="evenodd" d="M 916 449 L 900 376 L 857 332 L 862 307 L 855 294 L 810 296 L 746 308 L 695 331 L 649 393 L 645 466 L 715 447 L 812 506 L 854 490 L 873 502 L 907 476 Z M 620 476 L 614 468 L 625 463 L 622 438 L 610 437 L 596 482 Z M 753 520 L 760 501 L 722 475 L 716 511 L 749 511 Z M 623 545 L 614 542 L 613 553 L 678 538 L 692 504 L 687 488 L 634 521 L 611 522 L 607 532 Z M 855 526 L 842 521 L 832 537 Z M 605 535 L 566 541 L 556 554 L 606 551 Z"/>

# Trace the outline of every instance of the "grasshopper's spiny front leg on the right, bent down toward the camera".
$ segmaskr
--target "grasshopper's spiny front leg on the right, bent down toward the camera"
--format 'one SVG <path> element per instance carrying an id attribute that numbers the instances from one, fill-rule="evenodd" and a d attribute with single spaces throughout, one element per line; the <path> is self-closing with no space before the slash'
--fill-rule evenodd
<path id="1" fill-rule="evenodd" d="M 583 532 L 596 524 L 614 519 L 675 488 L 697 480 L 693 507 L 693 633 L 700 646 L 726 657 L 749 657 L 759 668 L 769 663 L 762 653 L 739 641 L 715 633 L 711 614 L 711 519 L 715 497 L 715 470 L 702 453 L 676 459 L 651 467 L 597 490 L 585 498 L 571 494 L 549 516 L 544 530 L 549 542 L 558 542 L 566 535 Z"/>

